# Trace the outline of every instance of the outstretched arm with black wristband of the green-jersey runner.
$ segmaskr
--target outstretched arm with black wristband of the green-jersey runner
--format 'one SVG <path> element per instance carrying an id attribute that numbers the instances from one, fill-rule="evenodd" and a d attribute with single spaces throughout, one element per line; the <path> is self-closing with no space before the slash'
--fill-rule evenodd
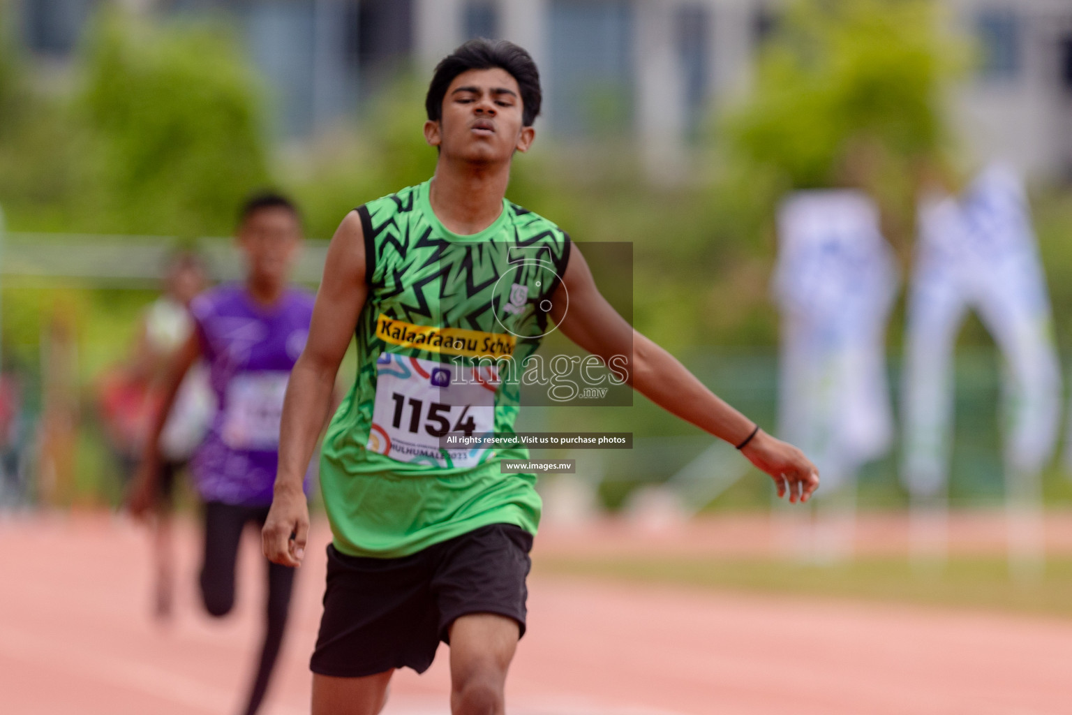
<path id="1" fill-rule="evenodd" d="M 551 317 L 567 338 L 607 363 L 622 356 L 627 382 L 664 409 L 732 445 L 744 442 L 755 422 L 728 405 L 672 355 L 634 330 L 602 297 L 589 265 L 571 247 L 569 265 L 552 300 Z M 741 450 L 757 467 L 771 475 L 789 501 L 806 502 L 819 487 L 819 472 L 804 453 L 762 430 Z"/>

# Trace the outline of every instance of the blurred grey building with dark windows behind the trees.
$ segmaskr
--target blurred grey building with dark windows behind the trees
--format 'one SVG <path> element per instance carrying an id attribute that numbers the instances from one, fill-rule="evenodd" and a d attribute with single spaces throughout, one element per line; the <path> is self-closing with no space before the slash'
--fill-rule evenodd
<path id="1" fill-rule="evenodd" d="M 27 46 L 69 58 L 101 0 L 17 0 Z M 400 66 L 427 73 L 468 38 L 536 57 L 542 129 L 560 140 L 638 138 L 655 175 L 686 162 L 704 118 L 746 92 L 779 0 L 125 0 L 237 25 L 272 89 L 279 135 L 314 135 L 367 104 Z M 980 41 L 953 111 L 980 161 L 1072 174 L 1072 2 L 943 0 Z"/>

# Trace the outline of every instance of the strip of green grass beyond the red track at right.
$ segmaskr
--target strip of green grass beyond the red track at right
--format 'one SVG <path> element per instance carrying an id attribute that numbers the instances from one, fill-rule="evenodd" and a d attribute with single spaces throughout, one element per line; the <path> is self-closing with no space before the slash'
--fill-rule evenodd
<path id="1" fill-rule="evenodd" d="M 1013 579 L 1003 556 L 951 558 L 944 568 L 906 558 L 835 566 L 772 560 L 539 556 L 537 575 L 791 596 L 830 597 L 1072 617 L 1072 557 L 1051 558 L 1038 578 Z"/>

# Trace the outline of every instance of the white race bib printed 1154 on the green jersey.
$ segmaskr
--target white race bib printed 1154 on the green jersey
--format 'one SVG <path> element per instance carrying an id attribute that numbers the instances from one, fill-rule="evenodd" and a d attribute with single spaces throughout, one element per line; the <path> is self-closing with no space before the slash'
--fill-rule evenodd
<path id="1" fill-rule="evenodd" d="M 400 462 L 443 467 L 479 464 L 488 449 L 442 444 L 450 434 L 481 436 L 494 431 L 494 367 L 382 353 L 376 360 L 376 402 L 366 447 Z"/>

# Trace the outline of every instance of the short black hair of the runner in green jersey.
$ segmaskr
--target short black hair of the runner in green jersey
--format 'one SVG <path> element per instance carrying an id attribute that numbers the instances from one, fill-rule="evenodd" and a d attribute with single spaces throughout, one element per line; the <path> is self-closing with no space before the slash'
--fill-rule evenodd
<path id="1" fill-rule="evenodd" d="M 492 68 L 506 70 L 517 80 L 521 90 L 521 122 L 532 126 L 542 100 L 539 71 L 528 53 L 506 40 L 470 40 L 447 55 L 436 65 L 432 84 L 428 86 L 428 96 L 425 98 L 428 118 L 440 121 L 443 117 L 443 98 L 455 77 L 470 70 Z"/>

